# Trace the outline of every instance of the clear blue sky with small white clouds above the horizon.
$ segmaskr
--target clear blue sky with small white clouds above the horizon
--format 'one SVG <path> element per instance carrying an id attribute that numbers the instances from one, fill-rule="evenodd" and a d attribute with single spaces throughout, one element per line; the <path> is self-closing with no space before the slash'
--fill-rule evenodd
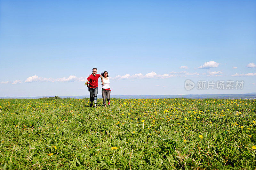
<path id="1" fill-rule="evenodd" d="M 256 1 L 1 0 L 0 97 L 89 95 L 93 67 L 111 95 L 256 92 L 255 30 Z"/>

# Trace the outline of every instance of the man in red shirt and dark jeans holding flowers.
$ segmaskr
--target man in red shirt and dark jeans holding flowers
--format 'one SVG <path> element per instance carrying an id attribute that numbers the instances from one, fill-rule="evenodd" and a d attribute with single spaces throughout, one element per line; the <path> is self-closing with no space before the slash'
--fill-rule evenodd
<path id="1" fill-rule="evenodd" d="M 98 94 L 98 79 L 101 78 L 101 82 L 103 82 L 103 77 L 100 74 L 97 74 L 97 68 L 92 69 L 92 74 L 87 78 L 89 81 L 89 92 L 90 92 L 90 107 L 93 105 L 94 101 L 94 107 L 96 107 L 97 104 L 97 94 Z"/>

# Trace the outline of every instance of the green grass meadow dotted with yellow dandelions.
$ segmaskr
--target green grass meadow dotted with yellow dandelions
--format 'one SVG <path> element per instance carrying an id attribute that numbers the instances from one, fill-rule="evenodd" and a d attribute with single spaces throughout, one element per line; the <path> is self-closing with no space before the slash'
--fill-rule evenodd
<path id="1" fill-rule="evenodd" d="M 256 100 L 89 104 L 1 99 L 0 169 L 256 168 Z"/>

